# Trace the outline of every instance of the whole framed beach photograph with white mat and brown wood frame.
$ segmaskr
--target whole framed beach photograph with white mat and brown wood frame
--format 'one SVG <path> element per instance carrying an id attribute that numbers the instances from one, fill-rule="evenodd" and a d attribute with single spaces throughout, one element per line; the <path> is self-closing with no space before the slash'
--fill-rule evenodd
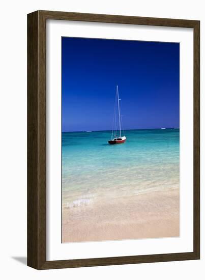
<path id="1" fill-rule="evenodd" d="M 28 266 L 200 258 L 199 26 L 28 14 Z"/>

